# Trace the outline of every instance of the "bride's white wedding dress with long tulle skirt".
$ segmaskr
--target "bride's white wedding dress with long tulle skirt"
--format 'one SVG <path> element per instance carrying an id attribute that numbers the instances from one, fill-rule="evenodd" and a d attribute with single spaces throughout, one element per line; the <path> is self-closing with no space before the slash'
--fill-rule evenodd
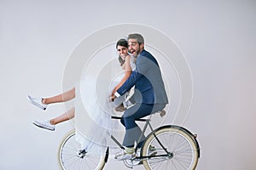
<path id="1" fill-rule="evenodd" d="M 135 69 L 134 58 L 130 65 Z M 124 77 L 125 71 L 115 76 L 113 81 L 103 77 L 85 76 L 76 86 L 75 124 L 76 140 L 81 149 L 101 155 L 109 145 L 111 131 L 116 128 L 112 123 L 113 108 L 123 103 L 127 94 L 109 102 L 109 94 Z"/>

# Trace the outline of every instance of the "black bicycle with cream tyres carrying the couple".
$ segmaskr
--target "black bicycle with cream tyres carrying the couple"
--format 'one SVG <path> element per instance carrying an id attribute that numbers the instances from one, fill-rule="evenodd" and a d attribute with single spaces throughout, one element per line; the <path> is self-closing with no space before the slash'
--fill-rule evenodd
<path id="1" fill-rule="evenodd" d="M 160 114 L 163 114 L 161 112 Z M 112 116 L 113 119 L 121 117 Z M 151 133 L 144 140 L 143 147 L 139 154 L 130 160 L 125 160 L 126 167 L 134 167 L 143 164 L 145 169 L 195 169 L 200 157 L 200 145 L 196 139 L 196 134 L 190 133 L 188 129 L 177 125 L 165 125 L 153 129 L 150 118 L 137 119 L 136 121 L 145 122 L 143 133 L 147 127 Z M 111 135 L 111 139 L 125 149 L 117 139 Z M 138 140 L 140 141 L 140 139 Z M 152 155 L 152 147 L 154 154 Z M 77 152 L 80 145 L 75 141 L 74 130 L 63 138 L 58 152 L 58 160 L 63 170 L 69 169 L 103 169 L 108 161 L 109 148 L 102 156 L 93 156 L 90 153 L 83 153 L 78 156 Z M 137 153 L 137 146 L 135 153 Z"/>

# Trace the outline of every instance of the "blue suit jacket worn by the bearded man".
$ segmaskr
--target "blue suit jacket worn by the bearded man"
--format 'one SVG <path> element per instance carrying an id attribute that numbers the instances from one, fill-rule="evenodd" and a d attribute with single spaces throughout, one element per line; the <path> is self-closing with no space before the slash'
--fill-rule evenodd
<path id="1" fill-rule="evenodd" d="M 146 50 L 137 56 L 136 70 L 131 72 L 131 76 L 118 89 L 117 93 L 123 95 L 133 86 L 135 86 L 134 99 L 136 103 L 168 103 L 160 67 L 154 56 Z"/>

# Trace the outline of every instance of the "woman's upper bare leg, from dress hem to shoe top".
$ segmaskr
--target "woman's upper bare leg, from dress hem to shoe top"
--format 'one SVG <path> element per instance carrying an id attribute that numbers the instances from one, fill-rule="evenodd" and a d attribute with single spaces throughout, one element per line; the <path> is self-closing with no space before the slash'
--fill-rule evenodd
<path id="1" fill-rule="evenodd" d="M 58 94 L 50 98 L 42 99 L 42 103 L 48 105 L 53 103 L 65 102 L 74 98 L 75 98 L 75 88 L 72 88 L 67 92 L 64 92 L 63 94 Z"/>

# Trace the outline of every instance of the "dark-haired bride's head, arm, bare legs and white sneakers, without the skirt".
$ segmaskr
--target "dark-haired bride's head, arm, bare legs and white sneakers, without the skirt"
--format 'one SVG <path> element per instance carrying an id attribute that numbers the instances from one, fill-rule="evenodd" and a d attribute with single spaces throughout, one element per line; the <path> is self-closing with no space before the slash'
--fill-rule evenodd
<path id="1" fill-rule="evenodd" d="M 119 39 L 116 43 L 116 49 L 119 54 L 119 64 L 121 65 L 124 73 L 113 81 L 113 84 L 116 84 L 113 88 L 111 96 L 116 92 L 116 90 L 123 85 L 123 83 L 130 77 L 132 69 L 135 68 L 134 59 L 128 54 L 128 42 L 125 39 Z M 61 103 L 66 102 L 68 100 L 75 98 L 75 88 L 70 89 L 69 91 L 58 94 L 50 98 L 45 99 L 36 99 L 32 96 L 28 95 L 29 101 L 33 104 L 38 106 L 42 110 L 46 110 L 47 106 L 54 103 Z M 125 99 L 124 96 L 120 97 L 119 99 L 115 99 L 116 106 L 121 105 L 123 100 Z M 120 111 L 119 108 L 117 111 Z M 63 113 L 61 116 L 57 116 L 53 119 L 50 119 L 46 122 L 38 122 L 34 121 L 33 124 L 42 127 L 44 129 L 48 129 L 51 131 L 55 130 L 55 125 L 60 122 L 65 122 L 69 119 L 72 119 L 75 114 L 75 109 L 72 108 L 71 110 Z"/>

